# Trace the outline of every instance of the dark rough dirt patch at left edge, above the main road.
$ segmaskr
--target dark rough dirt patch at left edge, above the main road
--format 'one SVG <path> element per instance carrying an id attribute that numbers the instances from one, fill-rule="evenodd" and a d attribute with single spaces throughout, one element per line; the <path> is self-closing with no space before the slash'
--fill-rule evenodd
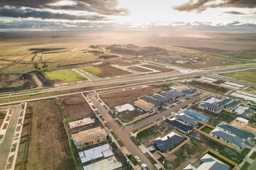
<path id="1" fill-rule="evenodd" d="M 0 75 L 0 92 L 11 92 L 17 90 L 36 88 L 30 74 L 6 74 Z"/>

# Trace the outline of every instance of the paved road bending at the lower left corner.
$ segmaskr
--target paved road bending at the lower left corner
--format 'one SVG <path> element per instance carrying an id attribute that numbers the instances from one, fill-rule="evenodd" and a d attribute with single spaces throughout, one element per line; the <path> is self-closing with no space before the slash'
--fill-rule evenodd
<path id="1" fill-rule="evenodd" d="M 2 140 L 2 142 L 0 142 L 0 170 L 5 169 L 22 106 L 4 106 L 0 107 L 0 110 L 9 108 L 13 109 L 13 112 L 11 114 L 11 119 L 4 135 L 4 139 Z"/>

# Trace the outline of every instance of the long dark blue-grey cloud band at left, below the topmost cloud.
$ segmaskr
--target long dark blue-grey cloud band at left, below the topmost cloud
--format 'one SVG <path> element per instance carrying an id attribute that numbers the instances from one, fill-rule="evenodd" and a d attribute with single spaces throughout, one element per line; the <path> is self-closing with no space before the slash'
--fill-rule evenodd
<path id="1" fill-rule="evenodd" d="M 0 8 L 1 17 L 13 18 L 42 18 L 42 19 L 65 19 L 65 20 L 86 20 L 86 21 L 102 21 L 107 20 L 106 17 L 98 15 L 71 15 L 54 13 L 50 11 L 40 11 L 33 9 L 16 9 L 16 8 Z"/>

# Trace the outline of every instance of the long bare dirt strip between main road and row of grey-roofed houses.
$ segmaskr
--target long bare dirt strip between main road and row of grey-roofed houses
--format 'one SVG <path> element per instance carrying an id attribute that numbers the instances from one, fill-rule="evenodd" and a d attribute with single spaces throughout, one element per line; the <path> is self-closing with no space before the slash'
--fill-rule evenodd
<path id="1" fill-rule="evenodd" d="M 106 103 L 107 106 L 113 107 L 124 103 L 128 103 L 137 99 L 139 96 L 150 95 L 154 91 L 160 90 L 160 88 L 152 86 L 139 89 L 125 90 L 121 92 L 113 92 L 102 94 L 99 97 Z"/>

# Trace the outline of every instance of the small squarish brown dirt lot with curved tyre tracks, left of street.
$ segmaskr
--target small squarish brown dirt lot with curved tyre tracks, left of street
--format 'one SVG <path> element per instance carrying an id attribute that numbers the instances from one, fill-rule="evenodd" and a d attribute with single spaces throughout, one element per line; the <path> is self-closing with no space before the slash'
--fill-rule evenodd
<path id="1" fill-rule="evenodd" d="M 91 107 L 81 94 L 59 97 L 65 119 L 83 118 L 92 113 Z"/>

